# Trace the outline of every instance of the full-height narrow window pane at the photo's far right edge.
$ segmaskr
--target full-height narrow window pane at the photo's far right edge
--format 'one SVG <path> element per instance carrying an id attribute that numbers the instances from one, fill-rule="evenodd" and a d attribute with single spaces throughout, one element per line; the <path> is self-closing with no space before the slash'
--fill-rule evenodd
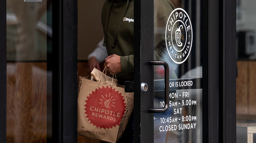
<path id="1" fill-rule="evenodd" d="M 236 0 L 237 78 L 236 125 L 237 142 L 256 141 L 256 26 L 255 1 Z M 253 130 L 254 129 L 254 130 Z"/>

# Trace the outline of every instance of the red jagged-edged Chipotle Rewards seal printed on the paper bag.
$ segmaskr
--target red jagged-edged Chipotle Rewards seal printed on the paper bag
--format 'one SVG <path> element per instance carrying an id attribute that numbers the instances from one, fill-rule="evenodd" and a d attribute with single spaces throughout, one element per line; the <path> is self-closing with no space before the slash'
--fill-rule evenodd
<path id="1" fill-rule="evenodd" d="M 121 93 L 112 87 L 102 87 L 92 91 L 85 102 L 85 114 L 91 124 L 104 129 L 119 126 L 126 107 Z"/>

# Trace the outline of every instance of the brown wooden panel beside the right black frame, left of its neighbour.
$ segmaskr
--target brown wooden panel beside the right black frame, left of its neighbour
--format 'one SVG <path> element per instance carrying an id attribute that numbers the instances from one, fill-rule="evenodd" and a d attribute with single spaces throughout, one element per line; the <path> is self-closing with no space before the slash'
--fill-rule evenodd
<path id="1" fill-rule="evenodd" d="M 248 62 L 237 61 L 236 78 L 236 112 L 237 114 L 248 113 Z"/>

